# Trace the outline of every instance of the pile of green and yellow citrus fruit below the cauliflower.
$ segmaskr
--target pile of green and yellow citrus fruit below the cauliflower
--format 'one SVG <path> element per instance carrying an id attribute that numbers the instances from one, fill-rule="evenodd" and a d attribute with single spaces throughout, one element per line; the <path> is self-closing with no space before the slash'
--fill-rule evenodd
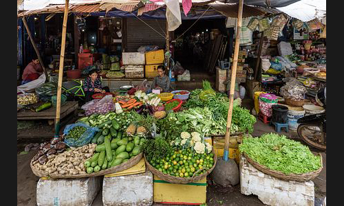
<path id="1" fill-rule="evenodd" d="M 214 165 L 214 154 L 197 154 L 190 148 L 175 150 L 164 159 L 152 159 L 149 163 L 164 174 L 178 177 L 192 177 L 203 174 Z M 200 171 L 199 171 L 200 170 Z"/>

